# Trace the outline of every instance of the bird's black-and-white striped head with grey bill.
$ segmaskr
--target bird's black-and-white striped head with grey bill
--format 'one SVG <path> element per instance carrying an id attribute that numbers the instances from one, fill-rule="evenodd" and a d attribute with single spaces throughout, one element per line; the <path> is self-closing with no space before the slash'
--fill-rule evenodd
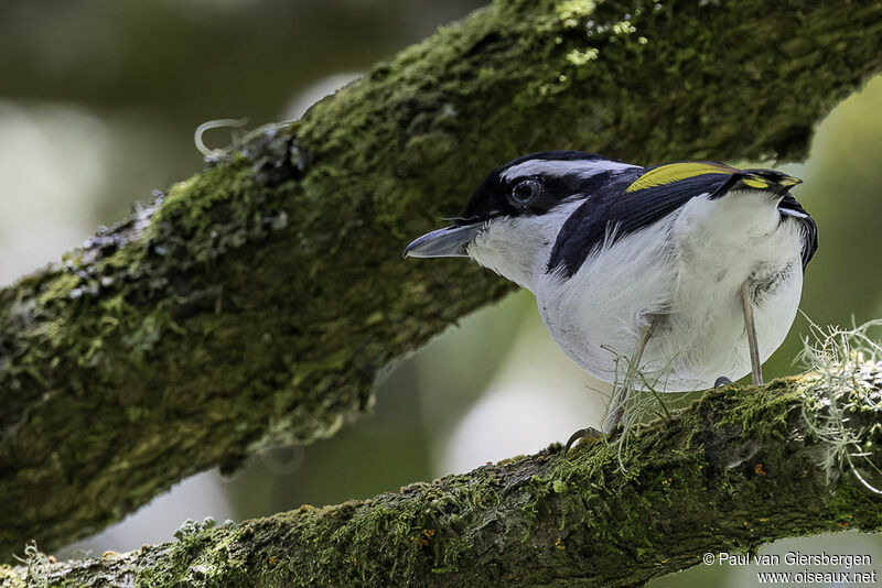
<path id="1" fill-rule="evenodd" d="M 577 151 L 534 153 L 494 170 L 453 225 L 411 242 L 405 257 L 470 257 L 531 288 L 569 215 L 600 186 L 641 170 Z"/>

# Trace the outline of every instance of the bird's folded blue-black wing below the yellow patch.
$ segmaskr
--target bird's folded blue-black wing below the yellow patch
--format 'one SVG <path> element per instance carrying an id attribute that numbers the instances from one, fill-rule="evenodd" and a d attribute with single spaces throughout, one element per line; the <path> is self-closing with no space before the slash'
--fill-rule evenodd
<path id="1" fill-rule="evenodd" d="M 548 261 L 548 272 L 557 270 L 567 277 L 572 276 L 585 258 L 603 244 L 607 235 L 612 235 L 612 242 L 615 242 L 660 220 L 696 196 L 724 189 L 732 178 L 729 174 L 702 174 L 626 192 L 644 172 L 620 174 L 614 183 L 585 198 L 561 227 Z"/>

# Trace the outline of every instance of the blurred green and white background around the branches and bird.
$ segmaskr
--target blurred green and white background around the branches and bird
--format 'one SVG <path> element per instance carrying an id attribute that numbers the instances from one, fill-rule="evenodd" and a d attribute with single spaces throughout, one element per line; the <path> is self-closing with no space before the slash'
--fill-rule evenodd
<path id="1" fill-rule="evenodd" d="M 0 1 L 0 284 L 57 260 L 152 189 L 198 172 L 193 130 L 201 122 L 295 118 L 375 61 L 483 3 Z M 880 107 L 876 78 L 821 123 L 808 161 L 782 166 L 805 179 L 797 196 L 820 227 L 802 308 L 821 325 L 882 316 Z M 214 146 L 228 140 L 222 131 L 206 137 Z M 767 378 L 797 371 L 792 361 L 807 333 L 800 316 Z M 333 439 L 269 450 L 230 478 L 191 478 L 57 555 L 132 549 L 169 540 L 185 519 L 366 498 L 533 453 L 596 425 L 606 390 L 557 349 L 531 296 L 517 293 L 390 369 L 375 414 Z M 765 552 L 793 548 L 882 562 L 882 543 L 856 533 Z M 756 585 L 753 571 L 699 566 L 652 586 L 747 587 Z"/>

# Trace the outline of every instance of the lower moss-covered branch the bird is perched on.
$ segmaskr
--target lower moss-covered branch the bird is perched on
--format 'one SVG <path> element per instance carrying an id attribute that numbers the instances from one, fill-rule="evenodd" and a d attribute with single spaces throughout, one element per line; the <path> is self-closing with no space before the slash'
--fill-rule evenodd
<path id="1" fill-rule="evenodd" d="M 860 390 L 816 373 L 711 391 L 630 446 L 583 444 L 336 507 L 187 524 L 178 542 L 30 566 L 52 586 L 642 586 L 782 537 L 882 530 L 879 366 Z M 857 371 L 856 371 L 857 373 Z M 848 405 L 868 464 L 825 468 L 815 434 Z M 863 481 L 859 476 L 863 478 Z M 6 571 L 11 574 L 10 570 Z M 24 568 L 17 570 L 21 578 Z M 2 578 L 2 574 L 0 574 Z M 23 579 L 23 578 L 22 578 Z"/>

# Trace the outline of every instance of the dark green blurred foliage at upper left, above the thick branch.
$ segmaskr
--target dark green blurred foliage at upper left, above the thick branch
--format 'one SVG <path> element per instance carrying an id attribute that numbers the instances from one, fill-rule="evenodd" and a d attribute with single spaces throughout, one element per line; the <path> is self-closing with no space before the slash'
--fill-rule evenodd
<path id="1" fill-rule="evenodd" d="M 109 222 L 202 167 L 200 123 L 278 120 L 308 86 L 363 70 L 481 4 L 0 0 L 0 98 L 63 102 L 122 127 L 98 209 Z M 142 168 L 151 170 L 143 184 L 127 182 Z"/>

